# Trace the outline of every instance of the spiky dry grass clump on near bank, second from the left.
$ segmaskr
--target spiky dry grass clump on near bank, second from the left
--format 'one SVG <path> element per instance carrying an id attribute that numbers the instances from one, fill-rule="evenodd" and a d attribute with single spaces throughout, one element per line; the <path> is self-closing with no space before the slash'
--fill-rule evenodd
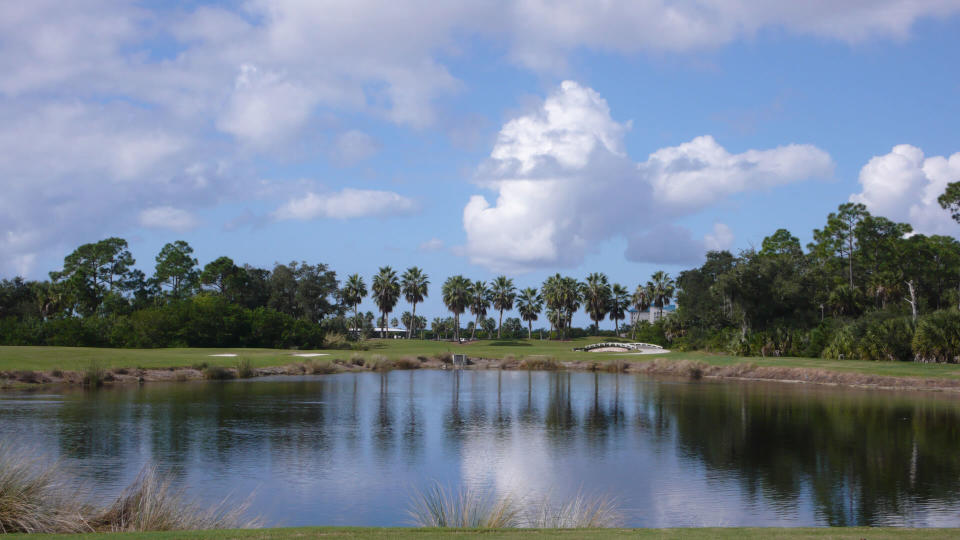
<path id="1" fill-rule="evenodd" d="M 188 499 L 182 490 L 170 487 L 155 467 L 145 467 L 137 479 L 94 520 L 97 530 L 114 532 L 238 529 L 259 525 L 246 520 L 249 501 L 232 505 L 228 501 L 204 508 Z"/>

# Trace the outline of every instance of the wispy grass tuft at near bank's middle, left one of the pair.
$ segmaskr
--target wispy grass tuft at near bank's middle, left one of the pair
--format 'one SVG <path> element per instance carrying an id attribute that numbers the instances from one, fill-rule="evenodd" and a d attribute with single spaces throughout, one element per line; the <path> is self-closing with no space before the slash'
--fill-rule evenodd
<path id="1" fill-rule="evenodd" d="M 414 492 L 407 513 L 419 527 L 502 529 L 520 524 L 520 507 L 512 497 L 494 499 L 469 488 L 453 491 L 439 483 Z"/>

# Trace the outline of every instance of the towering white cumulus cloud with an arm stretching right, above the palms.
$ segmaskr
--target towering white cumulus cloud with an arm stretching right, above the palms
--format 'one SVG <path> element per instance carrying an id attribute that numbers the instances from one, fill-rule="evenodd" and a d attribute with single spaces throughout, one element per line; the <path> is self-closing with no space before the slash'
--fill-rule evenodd
<path id="1" fill-rule="evenodd" d="M 623 150 L 628 128 L 595 91 L 572 81 L 540 109 L 507 122 L 477 176 L 496 200 L 474 195 L 463 211 L 470 259 L 497 270 L 573 266 L 623 235 L 631 260 L 695 261 L 729 247 L 732 232 L 718 224 L 694 240 L 671 220 L 733 193 L 829 176 L 833 168 L 813 146 L 731 154 L 709 136 L 635 163 Z"/>

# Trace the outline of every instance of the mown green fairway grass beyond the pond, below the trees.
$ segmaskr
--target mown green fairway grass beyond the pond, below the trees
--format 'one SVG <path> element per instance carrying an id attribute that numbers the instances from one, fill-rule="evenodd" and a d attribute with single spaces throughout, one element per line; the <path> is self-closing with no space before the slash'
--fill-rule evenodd
<path id="1" fill-rule="evenodd" d="M 609 339 L 609 338 L 606 338 Z M 654 358 L 671 360 L 699 360 L 712 365 L 729 365 L 751 362 L 758 366 L 801 367 L 827 369 L 841 372 L 884 375 L 891 377 L 930 377 L 960 379 L 960 365 L 916 364 L 912 362 L 866 362 L 860 360 L 822 360 L 817 358 L 743 358 L 714 355 L 702 352 L 672 352 L 662 355 L 629 356 L 618 353 L 589 353 L 573 351 L 589 343 L 604 341 L 604 338 L 583 338 L 572 341 L 526 340 L 481 340 L 457 345 L 444 341 L 405 339 L 373 339 L 367 343 L 367 351 L 318 350 L 292 351 L 276 349 L 97 349 L 86 347 L 0 347 L 0 371 L 65 369 L 82 371 L 97 361 L 104 368 L 167 368 L 196 366 L 236 367 L 239 360 L 249 361 L 252 367 L 285 365 L 305 362 L 308 359 L 294 356 L 295 353 L 320 352 L 329 356 L 314 358 L 317 362 L 335 358 L 348 360 L 362 355 L 370 359 L 375 355 L 395 360 L 402 357 L 436 356 L 444 352 L 463 353 L 472 357 L 504 358 L 512 355 L 518 360 L 527 356 L 554 357 L 561 362 L 603 362 L 616 359 L 649 361 Z M 233 353 L 236 357 L 214 357 L 211 354 Z"/>

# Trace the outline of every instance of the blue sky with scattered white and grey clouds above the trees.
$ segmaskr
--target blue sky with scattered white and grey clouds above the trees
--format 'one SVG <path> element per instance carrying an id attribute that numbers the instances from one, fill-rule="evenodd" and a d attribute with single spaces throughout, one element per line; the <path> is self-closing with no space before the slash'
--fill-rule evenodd
<path id="1" fill-rule="evenodd" d="M 960 0 L 4 2 L 0 120 L 2 278 L 182 239 L 418 265 L 433 317 L 449 275 L 633 289 L 848 201 L 960 235 Z"/>

